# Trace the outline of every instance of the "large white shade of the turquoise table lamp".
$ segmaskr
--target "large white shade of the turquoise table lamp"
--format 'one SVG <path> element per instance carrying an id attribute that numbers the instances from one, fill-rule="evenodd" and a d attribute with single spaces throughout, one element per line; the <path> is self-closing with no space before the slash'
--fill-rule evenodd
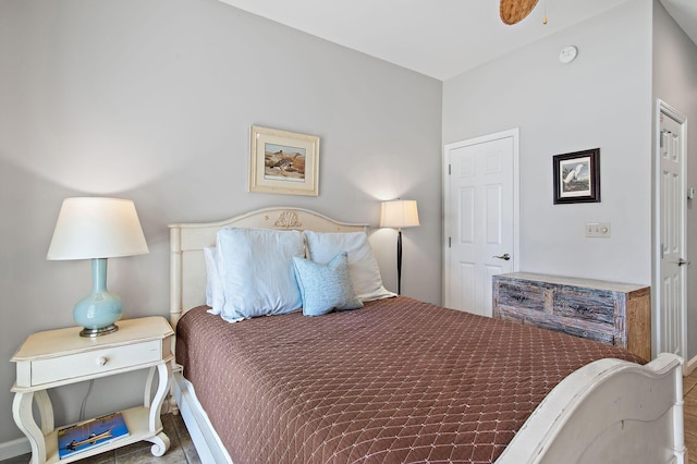
<path id="1" fill-rule="evenodd" d="M 148 245 L 132 200 L 66 198 L 46 258 L 115 258 L 146 253 Z"/>

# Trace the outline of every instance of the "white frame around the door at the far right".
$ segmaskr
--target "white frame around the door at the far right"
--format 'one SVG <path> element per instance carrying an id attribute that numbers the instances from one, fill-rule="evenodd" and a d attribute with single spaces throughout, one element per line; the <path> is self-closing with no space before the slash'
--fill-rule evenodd
<path id="1" fill-rule="evenodd" d="M 685 215 L 686 215 L 686 196 L 687 196 L 687 191 L 686 191 L 686 176 L 687 176 L 687 169 L 686 169 L 686 158 L 687 158 L 687 119 L 682 115 L 678 111 L 676 111 L 673 107 L 671 107 L 670 105 L 668 105 L 665 101 L 661 100 L 661 99 L 657 99 L 656 100 L 656 114 L 655 114 L 655 120 L 656 120 L 656 127 L 655 127 L 655 146 L 653 146 L 653 157 L 655 157 L 655 194 L 653 194 L 653 210 L 655 210 L 655 219 L 653 219 L 653 225 L 655 225 L 655 244 L 653 244 L 653 282 L 652 282 L 652 295 L 651 295 L 651 306 L 652 306 L 652 315 L 653 317 L 651 318 L 651 326 L 653 327 L 653 329 L 651 330 L 653 332 L 655 335 L 655 342 L 651 343 L 652 346 L 652 353 L 651 356 L 656 357 L 659 353 L 660 346 L 662 345 L 662 340 L 661 340 L 661 333 L 662 333 L 662 328 L 661 328 L 661 301 L 662 301 L 662 294 L 661 294 L 661 253 L 662 253 L 662 244 L 661 244 L 661 168 L 660 168 L 660 150 L 661 150 L 661 114 L 665 114 L 669 118 L 672 118 L 673 120 L 675 120 L 680 125 L 681 125 L 681 144 L 682 144 L 682 151 L 683 151 L 683 157 L 681 160 L 681 185 L 680 185 L 680 191 L 683 193 L 683 198 L 682 198 L 682 205 L 681 205 L 681 229 L 682 229 L 682 239 L 681 239 L 681 248 L 682 252 L 684 254 L 684 258 L 687 256 L 687 228 L 686 228 L 686 222 L 685 222 Z M 681 290 L 682 290 L 682 294 L 680 296 L 681 298 L 681 325 L 682 325 L 682 330 L 681 330 L 681 341 L 680 341 L 680 350 L 681 350 L 681 355 L 682 356 L 686 356 L 687 355 L 687 288 L 685 285 L 685 283 L 687 282 L 686 279 L 686 272 L 687 269 L 684 266 L 682 268 L 682 280 L 683 280 L 683 284 L 681 285 Z M 688 359 L 685 359 L 686 362 Z M 684 369 L 687 368 L 686 365 L 684 365 L 683 367 Z"/>

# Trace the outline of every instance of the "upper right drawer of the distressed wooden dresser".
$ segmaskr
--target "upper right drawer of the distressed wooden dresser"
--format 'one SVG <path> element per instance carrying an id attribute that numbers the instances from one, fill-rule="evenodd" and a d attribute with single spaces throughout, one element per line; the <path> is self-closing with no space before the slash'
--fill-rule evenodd
<path id="1" fill-rule="evenodd" d="M 562 289 L 554 292 L 552 314 L 600 323 L 614 323 L 614 300 L 610 292 Z"/>

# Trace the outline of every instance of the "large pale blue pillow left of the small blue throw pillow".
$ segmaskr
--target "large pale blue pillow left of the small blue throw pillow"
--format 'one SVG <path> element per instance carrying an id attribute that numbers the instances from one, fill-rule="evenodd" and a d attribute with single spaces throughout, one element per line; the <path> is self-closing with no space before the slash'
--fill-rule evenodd
<path id="1" fill-rule="evenodd" d="M 293 273 L 293 257 L 305 256 L 301 232 L 225 228 L 218 231 L 216 247 L 223 319 L 285 314 L 303 306 Z"/>

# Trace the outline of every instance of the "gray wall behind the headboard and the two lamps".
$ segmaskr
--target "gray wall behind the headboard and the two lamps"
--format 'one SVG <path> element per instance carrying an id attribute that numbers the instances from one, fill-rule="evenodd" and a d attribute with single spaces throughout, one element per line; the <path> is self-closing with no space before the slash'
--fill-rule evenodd
<path id="1" fill-rule="evenodd" d="M 87 261 L 46 260 L 64 197 L 135 200 L 150 253 L 109 262 L 125 317 L 169 312 L 170 222 L 291 205 L 377 228 L 379 200 L 400 196 L 421 220 L 403 293 L 439 303 L 441 90 L 215 0 L 0 0 L 0 444 L 22 436 L 10 357 L 72 326 L 90 288 Z M 321 137 L 319 197 L 247 193 L 250 124 Z M 371 235 L 390 289 L 395 241 Z M 139 380 L 98 381 L 87 415 L 137 403 Z M 59 423 L 86 388 L 51 391 Z"/>

